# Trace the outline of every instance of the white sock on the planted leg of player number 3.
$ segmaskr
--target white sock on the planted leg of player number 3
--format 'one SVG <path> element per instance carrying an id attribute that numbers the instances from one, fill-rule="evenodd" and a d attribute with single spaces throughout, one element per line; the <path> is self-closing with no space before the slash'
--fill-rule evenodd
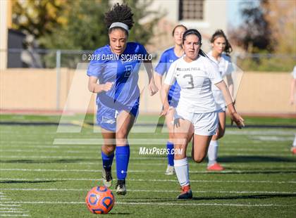
<path id="1" fill-rule="evenodd" d="M 178 177 L 178 181 L 180 186 L 187 186 L 189 185 L 189 167 L 187 158 L 183 158 L 181 160 L 173 160 L 174 167 L 175 167 L 175 174 Z"/>

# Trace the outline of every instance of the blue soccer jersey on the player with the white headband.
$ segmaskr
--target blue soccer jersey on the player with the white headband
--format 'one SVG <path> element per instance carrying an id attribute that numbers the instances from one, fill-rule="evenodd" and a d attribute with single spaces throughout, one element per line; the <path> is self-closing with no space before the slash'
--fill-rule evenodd
<path id="1" fill-rule="evenodd" d="M 120 111 L 131 110 L 139 104 L 137 82 L 143 56 L 147 56 L 147 51 L 135 42 L 128 42 L 125 51 L 119 56 L 112 53 L 109 45 L 94 51 L 87 75 L 97 77 L 100 84 L 113 82 L 109 91 L 97 94 L 98 105 Z"/>

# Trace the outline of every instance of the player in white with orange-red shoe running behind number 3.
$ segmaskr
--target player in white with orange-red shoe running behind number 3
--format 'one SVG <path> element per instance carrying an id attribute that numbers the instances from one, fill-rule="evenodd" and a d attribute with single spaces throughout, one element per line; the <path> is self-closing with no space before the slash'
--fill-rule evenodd
<path id="1" fill-rule="evenodd" d="M 231 77 L 231 73 L 233 72 L 233 65 L 230 61 L 230 52 L 233 49 L 222 30 L 217 30 L 211 37 L 211 51 L 207 54 L 207 56 L 214 61 L 218 65 L 218 70 L 221 74 L 221 77 L 226 77 L 228 89 L 230 91 L 231 96 L 233 97 L 233 79 Z M 211 142 L 209 144 L 208 150 L 208 170 L 213 171 L 221 171 L 224 168 L 218 164 L 217 156 L 218 156 L 218 139 L 221 139 L 225 133 L 226 127 L 226 103 L 223 98 L 222 91 L 218 89 L 217 86 L 212 84 L 211 89 L 214 94 L 216 108 L 218 110 L 218 119 L 219 124 L 216 130 L 216 134 L 211 138 Z M 233 98 L 234 99 L 234 98 Z"/>

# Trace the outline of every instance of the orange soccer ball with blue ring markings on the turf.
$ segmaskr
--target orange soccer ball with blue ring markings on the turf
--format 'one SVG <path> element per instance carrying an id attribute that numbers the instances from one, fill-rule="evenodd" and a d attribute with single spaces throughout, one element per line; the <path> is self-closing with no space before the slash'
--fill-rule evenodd
<path id="1" fill-rule="evenodd" d="M 114 195 L 106 186 L 95 186 L 85 198 L 88 210 L 94 214 L 107 214 L 115 203 Z"/>

